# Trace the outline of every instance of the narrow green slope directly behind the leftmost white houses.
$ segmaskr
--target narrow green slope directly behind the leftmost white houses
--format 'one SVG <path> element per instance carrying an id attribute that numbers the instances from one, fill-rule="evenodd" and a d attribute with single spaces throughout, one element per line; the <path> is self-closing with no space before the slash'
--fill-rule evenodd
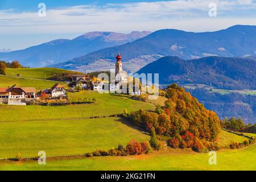
<path id="1" fill-rule="evenodd" d="M 7 77 L 0 75 L 0 87 L 13 86 L 32 86 L 36 90 L 51 88 L 56 82 L 55 81 L 44 81 L 44 80 L 34 80 L 29 78 L 18 78 L 18 77 Z M 65 82 L 60 82 L 64 85 Z"/>

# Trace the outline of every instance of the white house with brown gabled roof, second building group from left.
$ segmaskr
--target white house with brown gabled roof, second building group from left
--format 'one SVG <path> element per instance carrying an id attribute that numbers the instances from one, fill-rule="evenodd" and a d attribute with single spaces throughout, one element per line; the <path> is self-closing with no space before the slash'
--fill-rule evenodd
<path id="1" fill-rule="evenodd" d="M 50 89 L 41 90 L 38 94 L 38 97 L 42 97 L 43 94 L 46 98 L 64 98 L 67 96 L 67 90 L 60 84 L 55 84 Z"/>

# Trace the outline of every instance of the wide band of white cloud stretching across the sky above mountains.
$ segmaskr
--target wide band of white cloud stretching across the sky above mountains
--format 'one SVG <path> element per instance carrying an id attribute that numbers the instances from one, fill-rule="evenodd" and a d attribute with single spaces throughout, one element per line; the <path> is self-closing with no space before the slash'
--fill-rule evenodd
<path id="1" fill-rule="evenodd" d="M 208 5 L 212 2 L 217 4 L 216 18 L 208 16 Z M 47 10 L 46 17 L 39 17 L 37 12 L 15 13 L 14 10 L 1 10 L 0 34 L 96 30 L 129 32 L 161 28 L 212 31 L 233 24 L 255 24 L 255 10 L 256 2 L 253 0 L 177 0 L 105 6 L 81 5 Z"/>

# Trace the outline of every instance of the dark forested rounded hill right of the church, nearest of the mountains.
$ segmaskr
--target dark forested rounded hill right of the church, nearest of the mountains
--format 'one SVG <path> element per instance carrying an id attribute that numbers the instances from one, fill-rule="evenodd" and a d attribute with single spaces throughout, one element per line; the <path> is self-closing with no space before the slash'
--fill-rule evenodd
<path id="1" fill-rule="evenodd" d="M 234 57 L 182 60 L 166 56 L 140 69 L 159 73 L 160 84 L 205 84 L 221 89 L 256 89 L 256 61 Z"/>

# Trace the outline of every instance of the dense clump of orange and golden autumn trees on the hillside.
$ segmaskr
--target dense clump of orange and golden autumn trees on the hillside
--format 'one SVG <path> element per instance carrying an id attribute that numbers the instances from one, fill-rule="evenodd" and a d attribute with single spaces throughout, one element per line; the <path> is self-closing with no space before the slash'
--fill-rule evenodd
<path id="1" fill-rule="evenodd" d="M 214 148 L 221 131 L 217 114 L 205 109 L 177 84 L 168 86 L 166 97 L 164 106 L 157 106 L 154 111 L 141 109 L 131 114 L 124 112 L 123 116 L 151 136 L 157 134 L 160 140 L 167 140 L 173 148 L 192 148 L 198 152 Z"/>

